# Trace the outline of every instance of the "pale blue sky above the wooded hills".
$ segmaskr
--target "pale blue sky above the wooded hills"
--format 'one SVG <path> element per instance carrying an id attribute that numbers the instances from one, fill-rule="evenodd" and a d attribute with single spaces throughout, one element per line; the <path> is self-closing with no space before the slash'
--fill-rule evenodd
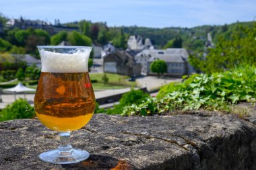
<path id="1" fill-rule="evenodd" d="M 82 19 L 108 26 L 151 28 L 223 25 L 256 20 L 256 0 L 0 0 L 9 18 L 54 24 Z"/>

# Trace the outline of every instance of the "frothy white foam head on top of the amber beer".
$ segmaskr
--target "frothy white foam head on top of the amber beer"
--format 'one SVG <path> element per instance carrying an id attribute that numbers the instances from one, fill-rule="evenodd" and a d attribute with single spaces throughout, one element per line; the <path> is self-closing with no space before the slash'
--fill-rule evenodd
<path id="1" fill-rule="evenodd" d="M 49 73 L 84 73 L 88 72 L 90 52 L 61 54 L 46 50 L 40 51 L 42 72 Z"/>

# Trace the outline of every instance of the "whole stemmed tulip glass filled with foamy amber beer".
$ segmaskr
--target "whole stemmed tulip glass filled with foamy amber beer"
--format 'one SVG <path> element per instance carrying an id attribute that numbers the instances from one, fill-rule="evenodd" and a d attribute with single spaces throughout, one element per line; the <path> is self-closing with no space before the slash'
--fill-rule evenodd
<path id="1" fill-rule="evenodd" d="M 72 148 L 70 132 L 85 126 L 95 109 L 95 96 L 88 74 L 91 47 L 37 46 L 42 70 L 34 109 L 44 126 L 59 132 L 56 150 L 39 155 L 55 164 L 77 163 L 88 159 L 87 151 Z"/>

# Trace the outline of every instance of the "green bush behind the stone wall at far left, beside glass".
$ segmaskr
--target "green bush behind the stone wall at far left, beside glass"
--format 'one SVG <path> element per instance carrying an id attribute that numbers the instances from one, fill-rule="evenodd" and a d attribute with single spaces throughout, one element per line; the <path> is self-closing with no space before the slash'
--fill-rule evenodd
<path id="1" fill-rule="evenodd" d="M 26 99 L 17 99 L 11 105 L 0 112 L 0 121 L 32 118 L 34 116 L 34 108 L 26 101 Z"/>

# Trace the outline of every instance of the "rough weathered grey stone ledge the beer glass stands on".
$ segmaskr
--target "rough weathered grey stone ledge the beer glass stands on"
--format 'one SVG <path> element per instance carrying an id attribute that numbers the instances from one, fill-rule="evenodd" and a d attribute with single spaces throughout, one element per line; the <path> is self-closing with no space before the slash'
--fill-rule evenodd
<path id="1" fill-rule="evenodd" d="M 37 119 L 1 122 L 0 133 L 0 169 L 256 169 L 256 126 L 231 115 L 95 114 L 71 140 L 90 158 L 72 165 L 38 159 L 58 137 Z"/>

